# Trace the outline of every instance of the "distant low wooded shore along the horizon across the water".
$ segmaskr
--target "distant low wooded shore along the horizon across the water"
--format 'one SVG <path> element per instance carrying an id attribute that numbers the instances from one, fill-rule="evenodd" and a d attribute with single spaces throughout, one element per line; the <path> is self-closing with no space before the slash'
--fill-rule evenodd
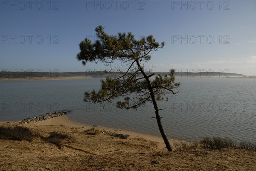
<path id="1" fill-rule="evenodd" d="M 110 76 L 117 78 L 124 72 L 104 72 L 104 71 L 91 71 L 91 72 L 9 72 L 1 71 L 0 78 L 32 78 L 32 77 L 76 77 L 84 76 L 88 78 L 105 78 Z M 168 72 L 153 72 L 155 75 L 166 75 Z M 228 78 L 228 77 L 242 77 L 245 75 L 226 72 L 175 72 L 176 78 Z"/>

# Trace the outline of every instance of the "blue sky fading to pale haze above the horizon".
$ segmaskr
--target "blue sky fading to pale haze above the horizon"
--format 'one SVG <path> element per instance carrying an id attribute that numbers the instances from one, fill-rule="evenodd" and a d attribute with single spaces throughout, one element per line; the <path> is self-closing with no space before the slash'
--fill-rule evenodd
<path id="1" fill-rule="evenodd" d="M 154 35 L 165 47 L 145 64 L 154 72 L 214 71 L 256 75 L 256 1 L 0 1 L 0 69 L 75 72 L 79 42 L 94 29 Z M 114 63 L 113 67 L 119 67 Z"/>

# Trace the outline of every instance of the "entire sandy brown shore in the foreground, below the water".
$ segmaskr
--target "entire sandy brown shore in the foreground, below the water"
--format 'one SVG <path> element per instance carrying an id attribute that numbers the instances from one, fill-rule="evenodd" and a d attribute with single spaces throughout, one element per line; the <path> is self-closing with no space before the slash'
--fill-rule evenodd
<path id="1" fill-rule="evenodd" d="M 17 122 L 0 122 L 1 128 Z M 31 142 L 0 136 L 0 170 L 29 171 L 253 171 L 256 151 L 186 148 L 172 141 L 168 152 L 160 137 L 81 125 L 65 116 L 20 125 L 40 137 Z M 67 135 L 61 146 L 50 143 L 52 132 Z M 130 135 L 123 139 L 119 135 Z M 114 135 L 114 136 L 113 136 Z M 117 135 L 117 136 L 116 136 Z M 177 142 L 177 143 L 176 143 Z"/>

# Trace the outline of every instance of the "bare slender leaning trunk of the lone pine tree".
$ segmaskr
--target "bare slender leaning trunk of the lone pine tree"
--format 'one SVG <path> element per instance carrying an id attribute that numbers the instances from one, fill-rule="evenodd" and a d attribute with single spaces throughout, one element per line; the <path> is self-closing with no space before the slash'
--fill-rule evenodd
<path id="1" fill-rule="evenodd" d="M 160 117 L 160 114 L 159 114 L 159 109 L 158 109 L 158 106 L 157 106 L 157 101 L 156 101 L 155 96 L 154 96 L 154 90 L 152 88 L 151 81 L 149 80 L 148 76 L 145 74 L 143 68 L 140 66 L 140 62 L 138 60 L 136 60 L 136 62 L 137 62 L 138 67 L 140 67 L 140 72 L 143 74 L 144 78 L 147 81 L 148 89 L 150 91 L 150 96 L 151 96 L 152 102 L 154 104 L 154 110 L 155 110 L 155 114 L 156 114 L 157 125 L 158 125 L 160 133 L 162 135 L 163 141 L 166 145 L 167 150 L 172 151 L 172 147 L 170 145 L 170 142 L 169 142 L 169 140 L 166 136 L 166 133 L 163 129 L 163 125 L 162 125 L 162 122 L 161 122 L 161 117 Z"/>

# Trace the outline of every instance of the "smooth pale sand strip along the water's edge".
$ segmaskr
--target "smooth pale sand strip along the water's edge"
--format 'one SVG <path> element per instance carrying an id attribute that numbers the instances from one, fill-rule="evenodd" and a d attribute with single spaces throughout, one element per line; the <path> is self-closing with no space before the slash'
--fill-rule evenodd
<path id="1" fill-rule="evenodd" d="M 16 125 L 21 125 L 18 124 L 18 121 L 0 121 L 0 125 L 6 124 L 6 123 L 14 123 Z M 120 133 L 120 134 L 128 134 L 130 135 L 129 137 L 131 138 L 143 138 L 149 141 L 154 141 L 158 143 L 158 148 L 165 148 L 166 145 L 164 144 L 163 138 L 160 136 L 152 136 L 152 135 L 148 135 L 145 133 L 136 133 L 136 132 L 132 132 L 129 130 L 119 130 L 119 129 L 113 129 L 113 128 L 106 128 L 106 127 L 101 127 L 101 126 L 90 126 L 90 125 L 86 125 L 86 124 L 80 124 L 80 123 L 76 123 L 71 121 L 70 119 L 67 119 L 66 116 L 58 116 L 58 117 L 54 117 L 54 118 L 49 118 L 45 121 L 42 122 L 36 122 L 36 123 L 29 123 L 29 124 L 22 124 L 22 125 L 26 125 L 26 126 L 33 126 L 33 127 L 38 127 L 38 126 L 46 126 L 46 125 L 54 125 L 54 126 L 65 126 L 68 128 L 83 128 L 84 130 L 90 129 L 90 128 L 96 128 L 99 130 L 106 130 L 109 132 L 113 132 L 113 133 Z M 30 126 L 29 126 L 30 127 Z M 174 139 L 169 139 L 169 142 L 171 144 L 173 143 L 177 143 L 177 142 L 182 142 L 179 140 L 174 140 Z"/>

